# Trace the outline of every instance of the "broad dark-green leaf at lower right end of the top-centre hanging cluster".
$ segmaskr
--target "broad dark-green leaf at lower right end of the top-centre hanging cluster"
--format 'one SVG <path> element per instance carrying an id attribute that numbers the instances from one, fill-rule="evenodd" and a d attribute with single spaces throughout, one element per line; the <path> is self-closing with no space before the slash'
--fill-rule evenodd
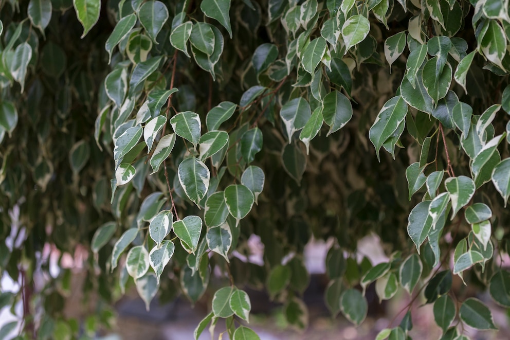
<path id="1" fill-rule="evenodd" d="M 322 102 L 322 117 L 324 122 L 330 126 L 326 137 L 340 130 L 352 118 L 351 101 L 339 91 L 333 91 L 324 97 Z"/>

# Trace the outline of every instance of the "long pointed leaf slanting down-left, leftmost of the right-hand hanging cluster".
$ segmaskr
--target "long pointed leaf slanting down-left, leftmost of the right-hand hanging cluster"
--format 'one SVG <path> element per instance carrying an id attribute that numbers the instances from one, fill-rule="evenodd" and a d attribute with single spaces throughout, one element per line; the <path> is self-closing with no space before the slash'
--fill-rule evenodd
<path id="1" fill-rule="evenodd" d="M 407 103 L 400 96 L 388 100 L 377 114 L 369 131 L 369 138 L 375 147 L 380 162 L 379 150 L 384 142 L 397 130 L 408 112 Z"/>

